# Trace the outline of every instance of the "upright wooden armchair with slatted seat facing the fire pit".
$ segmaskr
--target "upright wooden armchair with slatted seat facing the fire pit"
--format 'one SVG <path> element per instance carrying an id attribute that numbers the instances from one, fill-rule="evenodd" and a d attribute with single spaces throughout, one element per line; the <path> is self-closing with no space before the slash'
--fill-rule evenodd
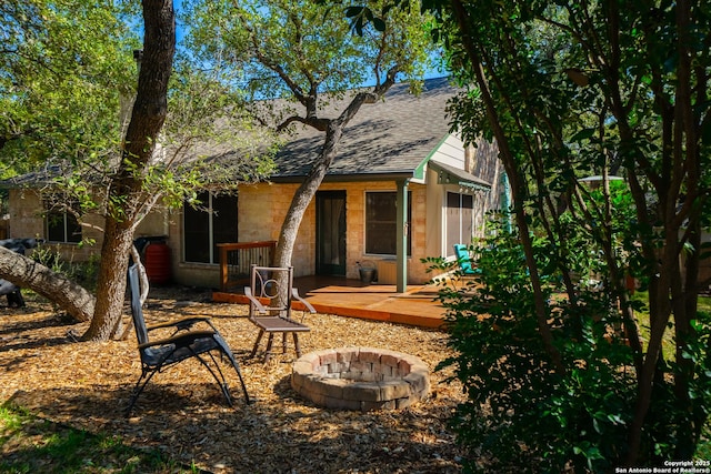
<path id="1" fill-rule="evenodd" d="M 257 354 L 259 343 L 264 333 L 269 333 L 264 363 L 269 362 L 272 354 L 274 333 L 282 333 L 282 353 L 287 353 L 287 335 L 293 335 L 297 357 L 301 356 L 299 346 L 299 333 L 308 332 L 310 327 L 301 321 L 291 317 L 292 303 L 298 301 L 304 307 L 304 312 L 316 313 L 313 306 L 299 296 L 299 291 L 293 288 L 293 268 L 257 266 L 252 265 L 250 286 L 244 288 L 244 295 L 249 299 L 249 320 L 259 327 L 259 334 L 252 349 L 251 357 Z"/>

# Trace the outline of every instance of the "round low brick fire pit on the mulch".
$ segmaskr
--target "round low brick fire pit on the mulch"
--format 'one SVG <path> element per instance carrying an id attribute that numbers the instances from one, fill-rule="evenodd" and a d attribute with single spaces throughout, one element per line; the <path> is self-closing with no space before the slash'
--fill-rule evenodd
<path id="1" fill-rule="evenodd" d="M 293 364 L 291 387 L 318 406 L 398 410 L 430 392 L 427 365 L 413 355 L 373 347 L 311 352 Z"/>

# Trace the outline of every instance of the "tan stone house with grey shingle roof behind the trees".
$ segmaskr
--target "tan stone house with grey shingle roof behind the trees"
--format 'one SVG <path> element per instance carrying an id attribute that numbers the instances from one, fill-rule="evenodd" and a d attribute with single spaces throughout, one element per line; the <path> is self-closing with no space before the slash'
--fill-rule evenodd
<path id="1" fill-rule="evenodd" d="M 485 212 L 499 208 L 503 172 L 497 149 L 485 142 L 465 147 L 449 133 L 445 108 L 455 91 L 448 80 L 425 81 L 419 97 L 408 90 L 408 84 L 394 85 L 385 100 L 363 105 L 346 129 L 338 158 L 299 229 L 292 259 L 297 276 L 357 279 L 357 262 L 370 261 L 380 283 L 398 283 L 403 291 L 432 276 L 420 259 L 453 256 L 453 244 L 480 235 Z M 206 192 L 201 201 L 208 211 L 184 206 L 152 215 L 139 235 L 167 236 L 177 282 L 218 286 L 214 244 L 277 241 L 322 141 L 320 132 L 300 131 L 278 153 L 270 182 L 240 185 L 237 195 Z M 99 251 L 100 245 L 77 249 L 72 243 L 80 236 L 71 215 L 48 219 L 37 192 L 11 188 L 10 236 L 59 242 L 76 259 Z M 81 232 L 101 239 L 98 231 Z M 407 255 L 398 255 L 398 240 Z"/>

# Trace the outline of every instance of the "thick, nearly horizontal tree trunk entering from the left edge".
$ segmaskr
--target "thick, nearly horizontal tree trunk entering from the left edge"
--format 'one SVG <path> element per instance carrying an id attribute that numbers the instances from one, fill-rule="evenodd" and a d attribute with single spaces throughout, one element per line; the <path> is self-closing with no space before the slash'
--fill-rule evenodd
<path id="1" fill-rule="evenodd" d="M 94 297 L 87 290 L 47 266 L 0 245 L 0 275 L 58 304 L 78 322 L 94 313 Z"/>

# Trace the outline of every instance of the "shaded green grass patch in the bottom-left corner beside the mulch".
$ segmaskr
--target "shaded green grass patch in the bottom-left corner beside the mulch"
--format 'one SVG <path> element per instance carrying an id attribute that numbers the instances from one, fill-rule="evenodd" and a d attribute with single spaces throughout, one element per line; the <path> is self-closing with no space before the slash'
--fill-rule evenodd
<path id="1" fill-rule="evenodd" d="M 127 446 L 119 436 L 92 434 L 0 405 L 0 473 L 198 473 L 157 451 Z"/>

